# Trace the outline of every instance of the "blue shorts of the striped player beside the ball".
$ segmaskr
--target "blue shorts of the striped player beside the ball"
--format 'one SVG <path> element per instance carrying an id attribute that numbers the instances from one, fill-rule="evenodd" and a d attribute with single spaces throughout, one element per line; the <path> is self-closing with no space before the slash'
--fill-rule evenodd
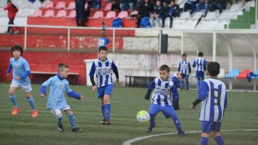
<path id="1" fill-rule="evenodd" d="M 160 105 L 151 103 L 149 114 L 154 114 L 156 116 L 159 111 L 161 111 L 166 118 L 172 117 L 174 114 L 176 114 L 173 108 L 173 105 L 160 106 Z"/>

